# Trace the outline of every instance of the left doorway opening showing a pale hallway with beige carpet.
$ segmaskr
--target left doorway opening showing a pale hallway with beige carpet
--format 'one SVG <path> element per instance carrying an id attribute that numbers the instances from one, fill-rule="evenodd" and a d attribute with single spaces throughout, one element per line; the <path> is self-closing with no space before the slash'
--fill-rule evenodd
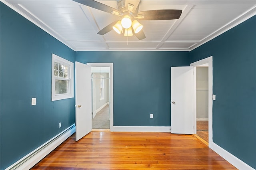
<path id="1" fill-rule="evenodd" d="M 92 67 L 92 129 L 110 129 L 110 67 Z"/>

